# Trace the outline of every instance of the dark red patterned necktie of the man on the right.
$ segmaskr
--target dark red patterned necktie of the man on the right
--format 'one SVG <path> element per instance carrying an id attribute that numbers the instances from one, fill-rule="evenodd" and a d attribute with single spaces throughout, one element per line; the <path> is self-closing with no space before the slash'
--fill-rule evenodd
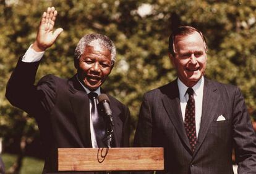
<path id="1" fill-rule="evenodd" d="M 187 101 L 186 112 L 185 112 L 185 129 L 192 152 L 195 151 L 195 144 L 197 144 L 197 133 L 195 131 L 195 99 L 194 90 L 192 88 L 187 89 L 189 94 L 189 100 Z"/>

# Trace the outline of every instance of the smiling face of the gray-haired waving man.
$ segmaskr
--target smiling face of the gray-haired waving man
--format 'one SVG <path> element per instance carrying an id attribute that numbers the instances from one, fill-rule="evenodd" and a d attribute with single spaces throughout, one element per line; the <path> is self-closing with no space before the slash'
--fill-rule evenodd
<path id="1" fill-rule="evenodd" d="M 105 47 L 87 45 L 79 58 L 77 74 L 80 82 L 89 90 L 96 90 L 111 73 L 111 53 Z"/>

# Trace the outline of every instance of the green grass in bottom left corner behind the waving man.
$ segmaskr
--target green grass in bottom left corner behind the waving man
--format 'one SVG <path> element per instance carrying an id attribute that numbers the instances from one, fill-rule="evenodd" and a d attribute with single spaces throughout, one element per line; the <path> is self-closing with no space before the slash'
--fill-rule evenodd
<path id="1" fill-rule="evenodd" d="M 1 154 L 2 160 L 7 170 L 14 164 L 16 156 L 13 154 Z M 44 161 L 33 157 L 25 157 L 20 174 L 41 174 L 43 171 Z"/>

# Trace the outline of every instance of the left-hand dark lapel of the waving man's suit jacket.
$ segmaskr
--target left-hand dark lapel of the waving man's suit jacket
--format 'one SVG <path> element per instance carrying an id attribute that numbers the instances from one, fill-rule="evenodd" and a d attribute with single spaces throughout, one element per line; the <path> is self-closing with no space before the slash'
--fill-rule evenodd
<path id="1" fill-rule="evenodd" d="M 70 81 L 70 104 L 73 108 L 77 127 L 85 147 L 92 147 L 90 133 L 90 101 L 76 75 Z"/>

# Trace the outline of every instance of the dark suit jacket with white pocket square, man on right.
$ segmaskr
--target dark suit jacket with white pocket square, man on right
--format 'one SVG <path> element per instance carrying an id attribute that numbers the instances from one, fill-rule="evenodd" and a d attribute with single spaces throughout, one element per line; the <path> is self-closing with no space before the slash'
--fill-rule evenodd
<path id="1" fill-rule="evenodd" d="M 217 121 L 221 115 L 225 121 Z M 256 136 L 240 90 L 208 79 L 194 154 L 184 129 L 177 80 L 145 93 L 134 144 L 164 148 L 160 173 L 233 173 L 233 148 L 239 173 L 256 173 Z"/>

